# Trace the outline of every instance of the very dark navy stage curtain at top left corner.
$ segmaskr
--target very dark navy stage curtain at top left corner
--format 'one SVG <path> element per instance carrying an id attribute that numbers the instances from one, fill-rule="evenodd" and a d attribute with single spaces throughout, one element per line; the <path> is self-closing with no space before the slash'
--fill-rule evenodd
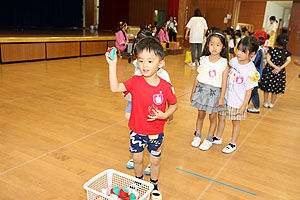
<path id="1" fill-rule="evenodd" d="M 82 27 L 83 0 L 7 0 L 1 27 Z"/>

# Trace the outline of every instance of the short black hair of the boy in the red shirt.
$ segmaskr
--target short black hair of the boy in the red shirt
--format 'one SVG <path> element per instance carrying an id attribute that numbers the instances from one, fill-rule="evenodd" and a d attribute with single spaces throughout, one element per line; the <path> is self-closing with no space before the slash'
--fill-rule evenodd
<path id="1" fill-rule="evenodd" d="M 154 37 L 144 37 L 142 38 L 134 47 L 134 54 L 147 50 L 149 52 L 153 51 L 155 55 L 159 56 L 161 60 L 165 57 L 164 48 L 161 46 L 160 41 Z"/>

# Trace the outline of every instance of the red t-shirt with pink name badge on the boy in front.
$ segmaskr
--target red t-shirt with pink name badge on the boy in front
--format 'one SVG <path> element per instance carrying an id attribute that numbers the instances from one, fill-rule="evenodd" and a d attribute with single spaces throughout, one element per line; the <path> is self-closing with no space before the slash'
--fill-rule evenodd
<path id="1" fill-rule="evenodd" d="M 142 135 L 157 135 L 164 131 L 166 120 L 147 121 L 153 115 L 152 109 L 165 112 L 166 102 L 176 104 L 173 86 L 160 78 L 158 86 L 149 85 L 143 76 L 133 76 L 124 82 L 126 90 L 132 95 L 129 128 Z"/>

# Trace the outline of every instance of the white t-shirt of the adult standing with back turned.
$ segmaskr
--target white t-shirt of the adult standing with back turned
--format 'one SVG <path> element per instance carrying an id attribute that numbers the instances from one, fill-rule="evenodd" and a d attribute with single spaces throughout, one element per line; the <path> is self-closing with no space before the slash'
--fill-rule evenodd
<path id="1" fill-rule="evenodd" d="M 192 17 L 186 27 L 190 29 L 190 43 L 203 43 L 204 30 L 208 29 L 203 17 Z"/>

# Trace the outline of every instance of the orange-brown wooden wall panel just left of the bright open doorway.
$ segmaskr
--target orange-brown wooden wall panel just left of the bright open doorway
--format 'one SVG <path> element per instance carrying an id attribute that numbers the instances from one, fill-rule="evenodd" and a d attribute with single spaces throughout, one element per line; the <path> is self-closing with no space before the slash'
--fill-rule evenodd
<path id="1" fill-rule="evenodd" d="M 265 9 L 265 1 L 242 1 L 238 23 L 253 24 L 254 32 L 263 30 Z"/>

